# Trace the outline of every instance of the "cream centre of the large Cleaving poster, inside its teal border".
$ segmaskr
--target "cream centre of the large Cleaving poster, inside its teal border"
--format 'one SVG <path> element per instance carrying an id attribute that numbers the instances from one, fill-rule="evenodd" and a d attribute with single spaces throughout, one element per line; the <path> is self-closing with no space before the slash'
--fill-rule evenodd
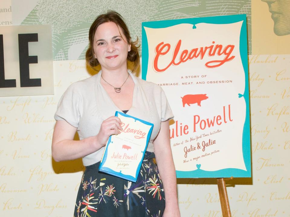
<path id="1" fill-rule="evenodd" d="M 243 21 L 231 24 L 209 24 L 206 22 L 210 21 L 205 21 L 205 23 L 195 24 L 195 29 L 192 28 L 192 24 L 186 23 L 190 21 L 184 22 L 183 24 L 172 24 L 172 26 L 165 28 L 149 28 L 146 27 L 149 25 L 144 24 L 149 53 L 146 80 L 162 86 L 175 115 L 173 120 L 178 122 L 177 127 L 176 124 L 171 124 L 170 126 L 170 136 L 172 137 L 170 143 L 174 153 L 175 168 L 178 171 L 192 171 L 196 170 L 200 164 L 200 169 L 204 171 L 218 171 L 226 168 L 238 168 L 247 171 L 242 150 L 246 102 L 244 98 L 238 98 L 238 94 L 244 93 L 245 90 L 244 82 L 240 82 L 245 80 L 245 72 L 243 71 L 239 49 Z M 211 31 L 216 34 L 209 39 L 208 33 Z M 224 33 L 230 31 L 230 36 L 224 35 Z M 172 61 L 173 53 L 176 52 L 176 43 L 179 40 L 181 40 L 181 46 L 178 49 L 175 62 L 179 62 L 178 59 L 183 50 L 190 52 L 194 48 L 216 46 L 217 44 L 222 45 L 221 50 L 227 50 L 227 52 L 229 52 L 229 49 L 225 48 L 227 45 L 234 46 L 234 49 L 228 56 L 225 54 L 218 55 L 218 52 L 214 56 L 209 56 L 206 52 L 203 57 L 193 58 L 178 66 L 172 64 L 165 71 L 157 73 L 156 67 L 159 70 L 164 69 Z M 153 62 L 156 61 L 154 59 L 156 55 L 155 49 L 160 42 L 164 42 L 164 45 L 170 45 L 170 49 L 166 47 L 162 49 L 162 52 L 168 52 L 158 56 L 157 66 L 153 66 Z M 161 50 L 161 48 L 159 49 Z M 190 55 L 188 54 L 188 56 Z M 223 60 L 224 58 L 233 59 L 224 62 L 219 67 L 208 68 L 205 66 L 207 62 Z M 217 65 L 218 63 L 215 62 L 210 65 Z M 210 83 L 217 80 L 223 80 L 225 83 Z M 197 103 L 182 105 L 182 102 L 186 100 L 187 94 L 206 94 L 206 97 L 201 102 L 195 101 Z M 192 103 L 192 100 L 188 101 Z M 230 109 L 228 105 L 230 105 Z M 225 117 L 220 121 L 220 125 L 216 121 L 212 121 L 213 126 L 201 124 L 202 119 L 215 120 L 213 117 L 218 115 L 223 117 L 223 106 L 225 106 Z M 194 115 L 200 117 L 200 121 L 197 124 L 194 124 Z M 230 118 L 233 121 L 230 121 Z M 185 125 L 188 128 L 187 134 L 185 132 L 182 134 L 179 128 Z M 202 128 L 203 126 L 204 128 Z M 233 128 L 236 128 L 236 130 L 232 131 L 231 129 Z M 211 135 L 215 131 L 219 131 L 219 133 Z M 232 133 L 227 134 L 224 132 Z M 208 136 L 204 136 L 204 134 Z M 210 141 L 214 141 L 214 144 Z M 229 145 L 229 141 L 233 141 L 233 143 Z M 210 146 L 203 147 L 203 143 L 208 143 Z M 198 149 L 197 144 L 200 144 L 200 149 Z M 250 144 L 246 143 L 244 145 L 249 146 Z M 195 147 L 196 150 L 191 150 L 191 147 Z M 191 151 L 186 153 L 184 149 Z M 216 163 L 213 165 L 209 162 Z M 224 174 L 228 173 L 224 172 Z M 203 171 L 196 172 L 196 175 L 193 176 L 185 175 L 185 177 L 207 176 L 214 177 Z M 178 177 L 182 177 L 182 175 L 178 175 Z"/>

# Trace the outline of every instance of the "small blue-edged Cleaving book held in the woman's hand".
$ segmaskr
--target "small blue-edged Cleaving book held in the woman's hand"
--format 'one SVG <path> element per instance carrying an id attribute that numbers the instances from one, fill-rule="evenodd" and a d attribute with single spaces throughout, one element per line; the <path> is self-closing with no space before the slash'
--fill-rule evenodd
<path id="1" fill-rule="evenodd" d="M 153 124 L 116 112 L 123 130 L 108 139 L 99 171 L 136 182 L 153 130 Z"/>

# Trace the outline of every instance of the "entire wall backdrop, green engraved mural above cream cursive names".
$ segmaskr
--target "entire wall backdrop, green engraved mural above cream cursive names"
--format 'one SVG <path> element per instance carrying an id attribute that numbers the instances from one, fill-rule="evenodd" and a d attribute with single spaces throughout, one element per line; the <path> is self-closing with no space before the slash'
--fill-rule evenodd
<path id="1" fill-rule="evenodd" d="M 247 14 L 252 178 L 228 182 L 230 208 L 233 217 L 290 216 L 290 54 L 285 52 L 289 33 L 276 35 L 277 21 L 267 5 L 275 2 L 287 8 L 288 1 L 25 2 L 1 1 L 0 24 L 52 25 L 55 95 L 0 97 L 1 216 L 72 216 L 84 168 L 80 159 L 53 161 L 53 115 L 67 86 L 91 76 L 83 60 L 88 28 L 94 17 L 109 8 L 124 15 L 132 35 L 139 39 L 141 21 Z M 222 216 L 216 179 L 177 182 L 182 217 Z"/>

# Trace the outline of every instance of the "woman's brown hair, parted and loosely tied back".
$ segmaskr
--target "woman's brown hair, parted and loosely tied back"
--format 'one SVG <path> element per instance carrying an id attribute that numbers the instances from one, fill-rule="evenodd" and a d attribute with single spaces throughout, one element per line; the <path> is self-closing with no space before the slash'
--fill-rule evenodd
<path id="1" fill-rule="evenodd" d="M 114 22 L 117 24 L 117 26 L 121 27 L 126 39 L 127 43 L 131 44 L 131 50 L 128 52 L 127 60 L 130 62 L 133 62 L 133 72 L 135 72 L 139 66 L 140 58 L 139 58 L 139 52 L 138 52 L 138 38 L 136 41 L 131 41 L 130 32 L 128 30 L 127 25 L 124 22 L 123 17 L 118 14 L 116 11 L 108 11 L 106 14 L 99 15 L 95 21 L 92 23 L 90 30 L 89 30 L 89 48 L 85 54 L 85 59 L 87 64 L 94 68 L 95 66 L 98 66 L 99 62 L 94 57 L 94 36 L 95 32 L 99 25 L 107 22 Z"/>

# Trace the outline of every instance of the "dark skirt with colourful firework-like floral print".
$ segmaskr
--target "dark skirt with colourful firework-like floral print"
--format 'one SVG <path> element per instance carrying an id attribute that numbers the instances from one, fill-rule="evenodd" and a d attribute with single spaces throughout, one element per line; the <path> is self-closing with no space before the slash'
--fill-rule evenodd
<path id="1" fill-rule="evenodd" d="M 162 217 L 163 185 L 155 155 L 146 152 L 136 183 L 87 166 L 76 199 L 74 217 Z"/>

